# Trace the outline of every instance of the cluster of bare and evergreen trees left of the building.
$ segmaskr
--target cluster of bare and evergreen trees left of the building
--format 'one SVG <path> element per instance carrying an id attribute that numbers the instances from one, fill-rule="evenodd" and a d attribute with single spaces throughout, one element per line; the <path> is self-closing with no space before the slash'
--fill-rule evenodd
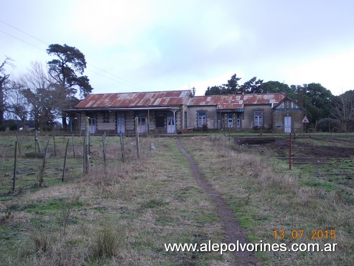
<path id="1" fill-rule="evenodd" d="M 63 129 L 67 130 L 68 113 L 63 111 L 74 107 L 80 98 L 92 91 L 87 76 L 86 60 L 75 47 L 53 44 L 46 52 L 54 59 L 43 65 L 32 62 L 27 73 L 10 78 L 5 67 L 14 67 L 9 57 L 0 64 L 0 127 L 4 118 L 14 115 L 25 128 L 31 117 L 35 128 L 43 131 L 51 128 L 61 118 Z"/>

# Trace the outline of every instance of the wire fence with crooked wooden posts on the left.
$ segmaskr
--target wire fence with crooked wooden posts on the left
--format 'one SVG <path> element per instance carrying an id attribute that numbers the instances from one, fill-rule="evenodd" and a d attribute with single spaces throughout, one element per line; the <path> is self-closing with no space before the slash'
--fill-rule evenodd
<path id="1" fill-rule="evenodd" d="M 84 136 L 52 134 L 36 137 L 34 132 L 2 135 L 0 136 L 0 195 L 16 195 L 35 186 L 50 186 L 78 179 L 84 172 L 83 154 Z M 120 136 L 105 138 L 90 136 L 90 167 L 121 164 L 123 156 L 125 160 L 134 160 L 137 157 L 135 138 L 122 136 L 121 141 Z M 43 171 L 43 184 L 38 183 L 41 171 Z"/>

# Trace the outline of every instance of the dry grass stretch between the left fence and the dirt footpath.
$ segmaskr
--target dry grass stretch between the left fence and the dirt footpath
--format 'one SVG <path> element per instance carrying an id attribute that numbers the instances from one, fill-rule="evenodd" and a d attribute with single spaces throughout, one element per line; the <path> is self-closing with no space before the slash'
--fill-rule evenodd
<path id="1" fill-rule="evenodd" d="M 229 254 L 164 251 L 165 242 L 221 242 L 221 225 L 176 140 L 140 141 L 139 160 L 135 142 L 127 140 L 127 146 L 133 145 L 126 148 L 125 164 L 120 149 L 110 149 L 106 169 L 93 166 L 78 182 L 29 192 L 16 203 L 8 202 L 19 207 L 5 226 L 16 225 L 9 234 L 21 239 L 21 245 L 17 249 L 8 242 L 0 261 L 9 265 L 227 264 Z M 100 147 L 92 150 L 95 160 Z M 19 229 L 28 233 L 17 234 Z"/>

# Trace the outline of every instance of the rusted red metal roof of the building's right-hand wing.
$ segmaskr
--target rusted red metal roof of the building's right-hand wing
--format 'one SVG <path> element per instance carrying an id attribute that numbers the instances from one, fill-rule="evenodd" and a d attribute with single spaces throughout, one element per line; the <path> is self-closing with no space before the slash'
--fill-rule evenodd
<path id="1" fill-rule="evenodd" d="M 238 109 L 245 104 L 273 104 L 286 97 L 281 93 L 195 96 L 188 105 L 216 105 L 217 109 Z"/>

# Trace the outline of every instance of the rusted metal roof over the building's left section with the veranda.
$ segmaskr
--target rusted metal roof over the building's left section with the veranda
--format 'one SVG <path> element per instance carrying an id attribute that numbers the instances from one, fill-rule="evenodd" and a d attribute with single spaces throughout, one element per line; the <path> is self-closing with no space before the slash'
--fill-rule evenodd
<path id="1" fill-rule="evenodd" d="M 185 103 L 191 91 L 90 94 L 75 108 L 173 106 Z"/>

